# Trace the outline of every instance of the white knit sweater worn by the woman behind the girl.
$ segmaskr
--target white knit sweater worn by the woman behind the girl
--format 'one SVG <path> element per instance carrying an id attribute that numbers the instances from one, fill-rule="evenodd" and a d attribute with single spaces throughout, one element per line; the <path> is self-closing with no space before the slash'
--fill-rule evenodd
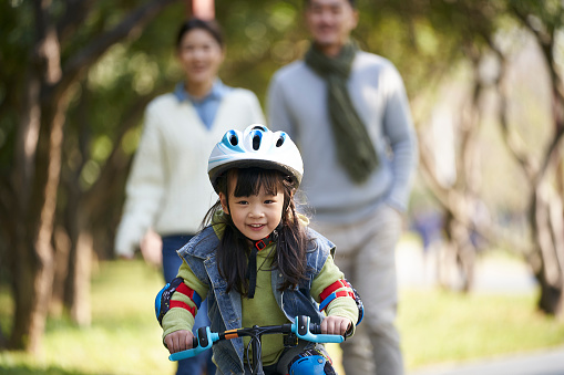
<path id="1" fill-rule="evenodd" d="M 244 88 L 222 100 L 212 127 L 189 101 L 173 93 L 153 100 L 126 185 L 115 252 L 132 256 L 148 228 L 161 236 L 195 233 L 217 199 L 207 177 L 207 158 L 225 132 L 265 124 L 258 98 Z"/>

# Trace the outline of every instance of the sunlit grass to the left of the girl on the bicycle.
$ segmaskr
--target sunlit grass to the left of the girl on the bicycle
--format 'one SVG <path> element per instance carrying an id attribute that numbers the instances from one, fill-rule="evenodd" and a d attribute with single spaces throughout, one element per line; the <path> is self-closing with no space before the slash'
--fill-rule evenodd
<path id="1" fill-rule="evenodd" d="M 42 353 L 0 352 L 0 374 L 173 374 L 154 313 L 162 287 L 160 272 L 142 261 L 101 263 L 92 281 L 91 326 L 50 320 Z M 0 308 L 0 322 L 6 310 Z"/>

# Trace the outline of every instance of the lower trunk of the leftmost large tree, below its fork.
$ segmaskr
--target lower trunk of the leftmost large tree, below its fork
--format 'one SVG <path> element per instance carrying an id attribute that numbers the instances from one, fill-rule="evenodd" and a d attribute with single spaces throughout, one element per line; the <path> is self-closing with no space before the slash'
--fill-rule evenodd
<path id="1" fill-rule="evenodd" d="M 16 320 L 11 343 L 37 352 L 41 345 L 54 278 L 54 251 L 51 246 L 57 189 L 61 168 L 64 112 L 61 97 L 53 112 L 43 107 L 34 170 L 30 217 L 20 223 L 24 231 L 18 241 L 16 280 Z M 21 219 L 24 219 L 23 217 Z"/>

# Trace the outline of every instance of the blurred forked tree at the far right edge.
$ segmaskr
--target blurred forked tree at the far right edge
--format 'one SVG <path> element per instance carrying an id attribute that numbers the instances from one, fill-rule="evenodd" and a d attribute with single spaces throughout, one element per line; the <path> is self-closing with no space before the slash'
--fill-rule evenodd
<path id="1" fill-rule="evenodd" d="M 546 142 L 532 150 L 519 133 L 512 117 L 511 101 L 514 83 L 507 77 L 511 51 L 495 39 L 489 44 L 498 54 L 500 75 L 500 125 L 511 155 L 521 167 L 529 184 L 527 211 L 533 247 L 527 253 L 541 285 L 539 308 L 548 314 L 564 314 L 564 81 L 562 76 L 562 35 L 564 3 L 562 1 L 507 1 L 507 13 L 530 34 L 544 59 L 544 66 L 535 72 L 541 79 L 547 71 L 552 116 L 548 124 L 529 124 L 546 129 Z"/>

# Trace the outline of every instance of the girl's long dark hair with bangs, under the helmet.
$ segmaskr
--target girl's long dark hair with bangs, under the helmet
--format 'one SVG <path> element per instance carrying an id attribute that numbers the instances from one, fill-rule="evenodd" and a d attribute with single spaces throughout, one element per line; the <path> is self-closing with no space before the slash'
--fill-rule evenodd
<path id="1" fill-rule="evenodd" d="M 263 168 L 233 168 L 219 176 L 217 186 L 218 191 L 223 192 L 227 199 L 228 180 L 234 176 L 237 179 L 235 185 L 235 197 L 248 197 L 258 195 L 260 189 L 267 194 L 276 195 L 279 189 L 284 192 L 284 206 L 281 221 L 276 229 L 278 238 L 276 239 L 276 254 L 271 269 L 278 270 L 284 277 L 284 283 L 280 291 L 288 287 L 296 287 L 306 274 L 306 247 L 308 238 L 306 231 L 299 222 L 294 202 L 294 181 L 289 176 L 274 169 Z M 227 205 L 228 205 L 227 200 Z M 214 215 L 222 209 L 221 201 L 209 209 L 202 226 L 212 223 Z M 227 281 L 227 292 L 235 289 L 242 295 L 248 292 L 247 259 L 250 253 L 248 239 L 235 227 L 230 215 L 223 215 L 225 231 L 217 250 L 217 268 L 219 274 Z M 217 219 L 215 219 L 217 220 Z"/>

